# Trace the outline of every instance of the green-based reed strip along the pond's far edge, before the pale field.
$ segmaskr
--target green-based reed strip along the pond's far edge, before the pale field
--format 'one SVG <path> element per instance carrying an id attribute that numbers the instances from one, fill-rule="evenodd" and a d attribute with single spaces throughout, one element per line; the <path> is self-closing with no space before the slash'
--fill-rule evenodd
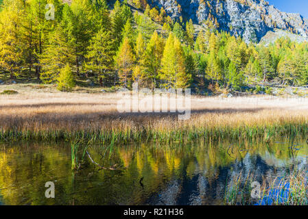
<path id="1" fill-rule="evenodd" d="M 286 112 L 287 113 L 287 112 Z M 189 122 L 174 118 L 129 116 L 116 118 L 20 118 L 12 116 L 1 125 L 0 139 L 12 140 L 87 140 L 110 144 L 154 140 L 158 142 L 197 140 L 252 140 L 265 141 L 281 136 L 305 136 L 306 116 L 285 115 L 281 111 L 261 114 L 196 114 Z M 30 120 L 30 122 L 29 122 Z"/>

